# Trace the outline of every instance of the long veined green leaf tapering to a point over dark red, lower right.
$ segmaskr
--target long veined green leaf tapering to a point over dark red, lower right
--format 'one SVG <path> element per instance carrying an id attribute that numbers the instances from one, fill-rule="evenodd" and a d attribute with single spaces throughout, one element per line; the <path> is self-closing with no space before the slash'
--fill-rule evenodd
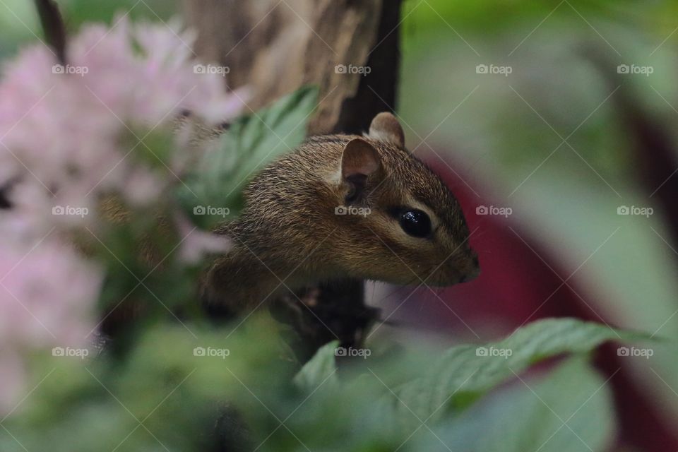
<path id="1" fill-rule="evenodd" d="M 435 419 L 447 411 L 446 407 L 459 412 L 542 359 L 562 353 L 589 352 L 608 340 L 643 338 L 648 336 L 616 331 L 600 323 L 545 319 L 530 323 L 496 343 L 453 347 L 427 371 L 427 376 L 396 389 L 402 401 L 397 405 L 400 419 L 412 421 L 412 412 L 421 420 Z"/>

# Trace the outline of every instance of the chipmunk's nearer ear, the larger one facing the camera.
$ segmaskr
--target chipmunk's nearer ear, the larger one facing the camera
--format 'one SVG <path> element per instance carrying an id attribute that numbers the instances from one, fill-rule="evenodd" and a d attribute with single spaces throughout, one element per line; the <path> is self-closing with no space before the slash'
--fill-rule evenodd
<path id="1" fill-rule="evenodd" d="M 364 194 L 367 178 L 381 173 L 381 158 L 371 144 L 354 138 L 341 154 L 341 179 L 348 186 L 346 201 L 357 201 Z"/>

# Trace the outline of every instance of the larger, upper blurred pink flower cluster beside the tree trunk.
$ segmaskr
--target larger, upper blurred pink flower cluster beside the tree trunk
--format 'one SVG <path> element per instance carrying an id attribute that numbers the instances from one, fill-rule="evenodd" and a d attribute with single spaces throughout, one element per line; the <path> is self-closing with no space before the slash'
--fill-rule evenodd
<path id="1" fill-rule="evenodd" d="M 242 95 L 226 93 L 222 76 L 194 71 L 193 41 L 177 23 L 122 18 L 111 30 L 83 28 L 70 42 L 67 66 L 42 45 L 25 49 L 0 83 L 0 184 L 19 178 L 57 206 L 88 207 L 111 190 L 152 201 L 131 192 L 131 181 L 160 194 L 177 180 L 171 161 L 158 162 L 167 167 L 159 178 L 135 158 L 150 153 L 140 143 L 147 133 L 169 133 L 185 109 L 210 122 L 242 109 Z"/>

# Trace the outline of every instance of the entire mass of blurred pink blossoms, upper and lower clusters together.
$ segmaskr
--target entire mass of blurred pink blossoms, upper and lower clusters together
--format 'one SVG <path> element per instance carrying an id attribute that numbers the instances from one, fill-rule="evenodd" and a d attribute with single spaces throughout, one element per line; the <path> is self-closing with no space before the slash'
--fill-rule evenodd
<path id="1" fill-rule="evenodd" d="M 59 232 L 95 224 L 102 193 L 137 206 L 167 196 L 181 168 L 162 161 L 169 153 L 157 165 L 135 158 L 151 152 L 141 143 L 148 133 L 169 136 L 184 110 L 208 122 L 240 112 L 241 98 L 226 93 L 220 73 L 196 71 L 192 43 L 177 23 L 122 18 L 113 28 L 83 28 L 69 41 L 66 66 L 43 45 L 4 66 L 0 193 L 12 207 L 0 209 L 2 393 L 20 381 L 22 350 L 78 343 L 95 325 L 102 274 L 59 242 Z M 196 250 L 182 251 L 190 258 L 211 240 L 196 233 Z"/>

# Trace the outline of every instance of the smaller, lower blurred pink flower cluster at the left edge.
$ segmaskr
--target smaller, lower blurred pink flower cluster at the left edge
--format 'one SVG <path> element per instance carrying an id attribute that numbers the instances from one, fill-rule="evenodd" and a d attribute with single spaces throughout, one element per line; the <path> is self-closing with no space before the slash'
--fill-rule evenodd
<path id="1" fill-rule="evenodd" d="M 25 353 L 88 346 L 101 283 L 98 268 L 53 239 L 0 245 L 0 416 L 27 389 Z"/>

